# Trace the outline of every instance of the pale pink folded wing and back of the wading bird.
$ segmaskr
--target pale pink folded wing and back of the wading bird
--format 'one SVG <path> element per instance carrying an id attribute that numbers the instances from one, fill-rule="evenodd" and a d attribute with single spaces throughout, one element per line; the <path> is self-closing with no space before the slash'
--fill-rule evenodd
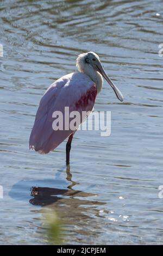
<path id="1" fill-rule="evenodd" d="M 29 138 L 29 148 L 40 154 L 47 154 L 57 148 L 75 130 L 54 131 L 53 112 L 61 111 L 64 117 L 65 107 L 70 107 L 70 112 L 92 111 L 96 95 L 95 83 L 82 73 L 68 74 L 55 81 L 40 101 Z"/>

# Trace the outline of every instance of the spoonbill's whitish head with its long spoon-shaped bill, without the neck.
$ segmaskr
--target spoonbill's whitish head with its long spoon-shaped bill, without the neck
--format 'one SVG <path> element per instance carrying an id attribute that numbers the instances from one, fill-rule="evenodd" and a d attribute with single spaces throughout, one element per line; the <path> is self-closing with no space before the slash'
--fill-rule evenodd
<path id="1" fill-rule="evenodd" d="M 99 74 L 101 74 L 104 77 L 104 79 L 110 84 L 118 100 L 123 101 L 122 93 L 115 86 L 115 84 L 110 80 L 109 76 L 106 74 L 101 64 L 101 61 L 99 60 L 99 57 L 95 52 L 87 52 L 87 53 L 79 54 L 76 65 L 80 72 L 84 72 L 86 66 L 89 66 L 91 69 L 93 68 L 94 70 L 99 72 Z"/>

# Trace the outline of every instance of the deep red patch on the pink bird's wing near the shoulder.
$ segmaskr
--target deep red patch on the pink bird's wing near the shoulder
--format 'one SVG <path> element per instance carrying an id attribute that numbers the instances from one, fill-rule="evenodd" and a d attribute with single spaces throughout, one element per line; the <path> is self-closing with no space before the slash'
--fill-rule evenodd
<path id="1" fill-rule="evenodd" d="M 89 101 L 95 102 L 97 95 L 97 88 L 94 84 L 89 90 L 87 90 L 86 94 L 84 94 L 80 99 L 76 102 L 77 108 L 84 108 L 89 105 Z"/>

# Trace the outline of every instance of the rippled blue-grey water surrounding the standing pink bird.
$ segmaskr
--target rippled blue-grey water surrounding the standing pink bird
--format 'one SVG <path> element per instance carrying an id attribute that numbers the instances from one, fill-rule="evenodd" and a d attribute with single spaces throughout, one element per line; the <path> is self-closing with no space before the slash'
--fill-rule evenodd
<path id="1" fill-rule="evenodd" d="M 1 244 L 47 244 L 47 205 L 66 223 L 66 244 L 162 244 L 162 4 L 1 1 Z M 86 51 L 125 100 L 104 83 L 95 110 L 111 111 L 111 136 L 76 133 L 71 182 L 66 142 L 39 155 L 28 138 L 41 95 Z"/>

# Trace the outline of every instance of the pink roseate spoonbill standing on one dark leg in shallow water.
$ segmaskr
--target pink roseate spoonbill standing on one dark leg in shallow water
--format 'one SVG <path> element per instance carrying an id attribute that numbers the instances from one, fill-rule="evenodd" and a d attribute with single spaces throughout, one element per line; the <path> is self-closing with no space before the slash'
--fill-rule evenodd
<path id="1" fill-rule="evenodd" d="M 80 54 L 76 66 L 78 72 L 62 76 L 43 95 L 29 139 L 30 149 L 35 149 L 40 154 L 47 154 L 68 138 L 66 144 L 67 165 L 70 164 L 71 142 L 76 130 L 53 130 L 54 119 L 52 115 L 54 111 L 61 111 L 64 115 L 65 107 L 70 107 L 70 112 L 92 112 L 96 96 L 103 86 L 103 77 L 110 84 L 117 98 L 123 101 L 123 95 L 106 75 L 96 53 Z"/>

